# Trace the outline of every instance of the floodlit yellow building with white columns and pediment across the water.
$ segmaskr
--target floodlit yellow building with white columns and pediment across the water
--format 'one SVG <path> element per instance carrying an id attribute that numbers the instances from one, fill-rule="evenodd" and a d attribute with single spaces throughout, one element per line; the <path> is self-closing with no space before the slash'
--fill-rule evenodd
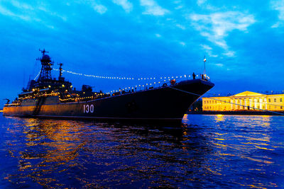
<path id="1" fill-rule="evenodd" d="M 284 94 L 262 94 L 244 91 L 233 96 L 202 98 L 204 111 L 271 110 L 284 111 Z"/>

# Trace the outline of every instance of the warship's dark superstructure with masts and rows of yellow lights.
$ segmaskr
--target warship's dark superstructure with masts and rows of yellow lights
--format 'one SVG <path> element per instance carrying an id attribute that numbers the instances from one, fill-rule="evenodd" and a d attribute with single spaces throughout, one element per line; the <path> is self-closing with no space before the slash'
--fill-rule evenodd
<path id="1" fill-rule="evenodd" d="M 76 91 L 73 89 L 72 84 L 69 81 L 65 81 L 62 76 L 62 63 L 59 63 L 59 76 L 58 79 L 52 78 L 51 70 L 53 70 L 53 62 L 49 55 L 46 55 L 45 50 L 40 50 L 42 57 L 38 58 L 41 63 L 40 74 L 38 79 L 28 82 L 28 87 L 23 88 L 23 92 L 18 95 L 15 101 L 11 105 L 28 105 L 30 102 L 38 101 L 38 104 L 43 104 L 48 96 L 58 96 L 60 102 L 71 101 L 89 101 L 97 97 L 102 97 L 102 92 L 92 92 L 92 87 L 83 85 L 82 91 Z M 56 98 L 54 98 L 56 99 Z M 37 108 L 36 108 L 37 109 Z M 36 114 L 38 111 L 35 111 Z M 33 115 L 34 115 L 33 114 Z"/>

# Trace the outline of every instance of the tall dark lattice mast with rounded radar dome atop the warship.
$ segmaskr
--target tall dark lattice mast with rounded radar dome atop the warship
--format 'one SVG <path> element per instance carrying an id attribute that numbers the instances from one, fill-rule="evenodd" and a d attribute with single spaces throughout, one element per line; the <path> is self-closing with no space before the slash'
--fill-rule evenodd
<path id="1" fill-rule="evenodd" d="M 53 62 L 51 62 L 50 57 L 48 55 L 45 55 L 45 49 L 40 50 L 41 53 L 43 53 L 43 57 L 38 58 L 41 62 L 41 70 L 40 70 L 40 76 L 38 77 L 38 81 L 43 80 L 51 80 L 51 70 Z"/>

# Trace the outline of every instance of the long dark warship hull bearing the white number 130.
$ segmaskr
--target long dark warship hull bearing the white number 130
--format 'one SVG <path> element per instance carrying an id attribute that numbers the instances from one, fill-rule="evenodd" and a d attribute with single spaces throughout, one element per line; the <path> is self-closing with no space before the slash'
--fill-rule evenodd
<path id="1" fill-rule="evenodd" d="M 180 124 L 183 115 L 214 84 L 201 79 L 181 81 L 173 86 L 124 93 L 93 101 L 4 106 L 4 115 L 37 118 L 121 120 L 160 124 Z"/>

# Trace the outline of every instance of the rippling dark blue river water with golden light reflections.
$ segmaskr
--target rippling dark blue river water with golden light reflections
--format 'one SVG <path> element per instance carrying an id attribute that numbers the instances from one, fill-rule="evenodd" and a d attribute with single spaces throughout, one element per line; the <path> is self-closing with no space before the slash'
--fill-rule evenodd
<path id="1" fill-rule="evenodd" d="M 0 117 L 1 188 L 284 187 L 284 117 L 185 115 L 178 129 Z"/>

